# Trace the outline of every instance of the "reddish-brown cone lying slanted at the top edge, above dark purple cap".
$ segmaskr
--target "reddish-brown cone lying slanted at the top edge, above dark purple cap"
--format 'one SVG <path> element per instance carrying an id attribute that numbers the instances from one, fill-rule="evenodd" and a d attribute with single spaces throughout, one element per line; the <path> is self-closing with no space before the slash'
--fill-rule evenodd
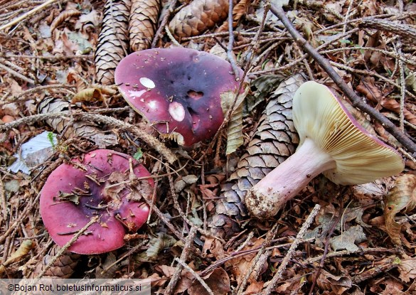
<path id="1" fill-rule="evenodd" d="M 227 16 L 228 0 L 194 0 L 172 18 L 169 30 L 178 38 L 196 36 Z"/>

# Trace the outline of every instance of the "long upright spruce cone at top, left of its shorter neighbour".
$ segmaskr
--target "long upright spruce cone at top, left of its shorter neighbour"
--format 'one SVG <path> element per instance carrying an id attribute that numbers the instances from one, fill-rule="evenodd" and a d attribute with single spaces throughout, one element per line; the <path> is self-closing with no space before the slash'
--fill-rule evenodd
<path id="1" fill-rule="evenodd" d="M 130 0 L 107 0 L 97 50 L 95 50 L 95 73 L 97 82 L 114 84 L 114 71 L 129 48 L 128 26 Z"/>

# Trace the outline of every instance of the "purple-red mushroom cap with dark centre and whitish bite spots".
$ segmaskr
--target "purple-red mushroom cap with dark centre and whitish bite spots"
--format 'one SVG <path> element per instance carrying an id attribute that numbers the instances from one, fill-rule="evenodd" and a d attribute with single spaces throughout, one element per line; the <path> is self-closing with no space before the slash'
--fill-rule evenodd
<path id="1" fill-rule="evenodd" d="M 210 139 L 218 131 L 228 111 L 221 100 L 237 94 L 238 78 L 226 60 L 188 48 L 132 53 L 114 74 L 129 105 L 183 146 Z"/>

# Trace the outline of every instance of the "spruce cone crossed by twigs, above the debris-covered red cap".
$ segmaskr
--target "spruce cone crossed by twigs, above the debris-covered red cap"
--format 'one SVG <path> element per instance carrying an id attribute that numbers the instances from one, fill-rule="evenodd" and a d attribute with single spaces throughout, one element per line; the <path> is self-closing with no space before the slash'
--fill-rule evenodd
<path id="1" fill-rule="evenodd" d="M 46 97 L 38 105 L 38 112 L 40 114 L 50 113 L 69 113 L 70 103 L 60 98 Z M 72 126 L 67 127 L 67 121 L 62 118 L 48 119 L 46 120 L 48 125 L 55 129 L 58 133 L 64 137 L 80 136 L 90 139 L 100 148 L 107 146 L 114 146 L 118 143 L 117 136 L 111 132 L 105 132 L 97 127 L 93 122 L 74 122 Z"/>

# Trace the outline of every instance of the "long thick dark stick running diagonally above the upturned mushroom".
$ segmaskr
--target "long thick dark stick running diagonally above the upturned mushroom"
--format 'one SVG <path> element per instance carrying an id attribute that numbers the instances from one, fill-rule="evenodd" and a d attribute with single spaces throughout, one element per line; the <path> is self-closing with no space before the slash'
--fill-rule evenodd
<path id="1" fill-rule="evenodd" d="M 370 117 L 373 117 L 373 119 L 378 120 L 381 124 L 383 124 L 383 127 L 388 130 L 393 136 L 395 136 L 396 139 L 406 147 L 406 149 L 412 151 L 412 153 L 416 153 L 416 144 L 413 142 L 406 134 L 404 134 L 398 127 L 395 126 L 392 122 L 390 122 L 389 119 L 387 119 L 383 114 L 378 112 L 378 110 L 374 109 L 373 107 L 370 107 L 369 104 L 366 104 L 361 100 L 361 97 L 356 95 L 356 92 L 352 90 L 348 85 L 346 85 L 346 82 L 336 73 L 334 68 L 331 67 L 329 64 L 329 61 L 326 60 L 322 55 L 320 55 L 316 49 L 310 45 L 297 31 L 296 28 L 294 28 L 291 21 L 289 21 L 289 18 L 287 18 L 286 14 L 284 13 L 282 7 L 276 7 L 271 5 L 270 11 L 279 18 L 280 21 L 284 24 L 284 26 L 287 28 L 287 31 L 292 35 L 294 38 L 294 41 L 298 43 L 299 45 L 306 50 L 309 55 L 311 55 L 312 58 L 318 63 L 321 68 L 323 68 L 326 73 L 328 73 L 329 77 L 334 80 L 336 85 L 343 90 L 345 95 L 351 100 L 351 103 L 354 107 L 358 107 L 358 109 L 361 109 L 361 111 L 366 112 L 370 115 Z"/>

